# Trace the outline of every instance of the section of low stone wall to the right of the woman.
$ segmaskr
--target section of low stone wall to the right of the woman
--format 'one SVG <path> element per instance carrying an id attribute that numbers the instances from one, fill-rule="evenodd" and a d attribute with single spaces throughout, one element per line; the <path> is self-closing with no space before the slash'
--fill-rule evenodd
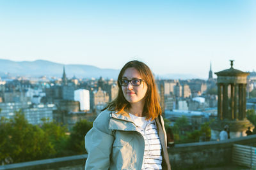
<path id="1" fill-rule="evenodd" d="M 256 135 L 228 139 L 175 145 L 168 149 L 172 169 L 200 169 L 232 163 L 232 145 L 256 145 Z"/>

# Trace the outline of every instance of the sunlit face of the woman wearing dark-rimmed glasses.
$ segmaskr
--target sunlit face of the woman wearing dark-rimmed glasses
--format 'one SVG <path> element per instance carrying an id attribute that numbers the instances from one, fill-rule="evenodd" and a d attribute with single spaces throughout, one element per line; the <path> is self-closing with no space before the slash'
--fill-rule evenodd
<path id="1" fill-rule="evenodd" d="M 125 70 L 122 80 L 134 80 L 129 81 L 127 86 L 122 86 L 122 91 L 125 99 L 129 103 L 144 102 L 145 94 L 147 93 L 147 83 L 142 80 L 140 73 L 134 67 L 129 67 Z M 139 86 L 132 85 L 132 83 L 138 83 L 136 80 L 142 80 Z"/>

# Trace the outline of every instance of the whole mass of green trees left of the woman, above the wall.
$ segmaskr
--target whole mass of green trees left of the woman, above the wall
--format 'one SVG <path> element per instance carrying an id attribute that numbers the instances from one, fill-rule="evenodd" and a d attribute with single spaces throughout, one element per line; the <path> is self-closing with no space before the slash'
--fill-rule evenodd
<path id="1" fill-rule="evenodd" d="M 92 123 L 81 120 L 69 135 L 67 127 L 43 120 L 32 125 L 17 111 L 12 119 L 0 118 L 0 163 L 10 164 L 85 153 L 84 136 Z"/>

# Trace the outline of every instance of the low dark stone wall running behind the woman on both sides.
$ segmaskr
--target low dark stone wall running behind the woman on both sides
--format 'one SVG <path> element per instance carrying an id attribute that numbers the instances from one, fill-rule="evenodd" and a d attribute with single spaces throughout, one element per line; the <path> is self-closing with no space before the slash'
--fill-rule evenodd
<path id="1" fill-rule="evenodd" d="M 168 148 L 172 170 L 175 169 L 201 169 L 203 167 L 221 166 L 232 163 L 232 145 L 256 145 L 256 135 L 242 138 L 228 139 L 226 141 L 208 141 L 201 143 L 186 143 Z M 36 160 L 19 164 L 0 166 L 2 169 L 13 170 L 65 170 L 84 169 L 87 155 L 76 155 L 56 159 Z"/>

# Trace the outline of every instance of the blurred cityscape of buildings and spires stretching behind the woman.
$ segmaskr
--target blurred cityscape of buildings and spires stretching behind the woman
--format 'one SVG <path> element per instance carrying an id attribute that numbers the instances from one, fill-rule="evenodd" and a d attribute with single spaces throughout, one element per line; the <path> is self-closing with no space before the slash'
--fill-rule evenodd
<path id="1" fill-rule="evenodd" d="M 232 69 L 231 66 L 227 70 Z M 116 97 L 118 86 L 113 78 L 104 79 L 102 76 L 99 78 L 76 78 L 76 75 L 68 78 L 65 65 L 61 71 L 62 75 L 59 77 L 10 76 L 8 73 L 1 76 L 0 117 L 2 125 L 4 120 L 12 122 L 11 120 L 17 118 L 17 114 L 21 113 L 28 124 L 44 127 L 47 123 L 53 123 L 65 127 L 63 132 L 65 131 L 66 136 L 70 136 L 77 124 L 83 120 L 93 122 L 100 111 L 106 107 L 106 104 Z M 215 74 L 220 73 L 215 72 Z M 247 112 L 252 112 L 256 110 L 256 72 L 241 73 L 246 74 L 244 83 L 246 85 L 244 86 L 246 108 L 244 111 L 246 109 Z M 219 134 L 224 124 L 230 124 L 229 118 L 226 123 L 218 123 L 218 121 L 225 122 L 227 119 L 224 117 L 226 113 L 223 115 L 224 119 L 220 118 L 222 116 L 218 113 L 220 110 L 218 110 L 220 108 L 218 106 L 218 92 L 220 92 L 218 81 L 221 79 L 213 78 L 212 63 L 209 63 L 208 74 L 207 80 L 156 78 L 161 108 L 163 108 L 163 115 L 166 118 L 166 124 L 168 124 L 166 127 L 172 128 L 174 138 L 171 142 L 174 141 L 177 145 L 179 143 L 181 145 L 182 143 L 220 141 Z M 232 87 L 228 88 L 227 96 L 230 98 Z M 240 106 L 237 105 L 237 107 Z M 254 111 L 252 115 L 248 114 L 246 117 L 250 117 L 252 122 L 243 122 L 246 127 L 234 130 L 230 124 L 231 138 L 246 136 L 245 131 L 248 126 L 252 127 L 251 130 L 255 134 L 253 129 L 256 113 Z M 235 116 L 233 115 L 233 117 Z M 233 119 L 239 120 L 238 116 Z M 243 118 L 241 120 L 244 121 Z M 233 130 L 234 132 L 232 132 Z M 1 136 L 1 138 L 4 137 Z M 68 153 L 65 154 L 68 155 Z M 71 153 L 71 155 L 74 154 Z M 16 162 L 12 158 L 6 160 L 3 155 L 1 161 L 2 165 L 8 164 L 8 161 L 9 163 Z"/>

